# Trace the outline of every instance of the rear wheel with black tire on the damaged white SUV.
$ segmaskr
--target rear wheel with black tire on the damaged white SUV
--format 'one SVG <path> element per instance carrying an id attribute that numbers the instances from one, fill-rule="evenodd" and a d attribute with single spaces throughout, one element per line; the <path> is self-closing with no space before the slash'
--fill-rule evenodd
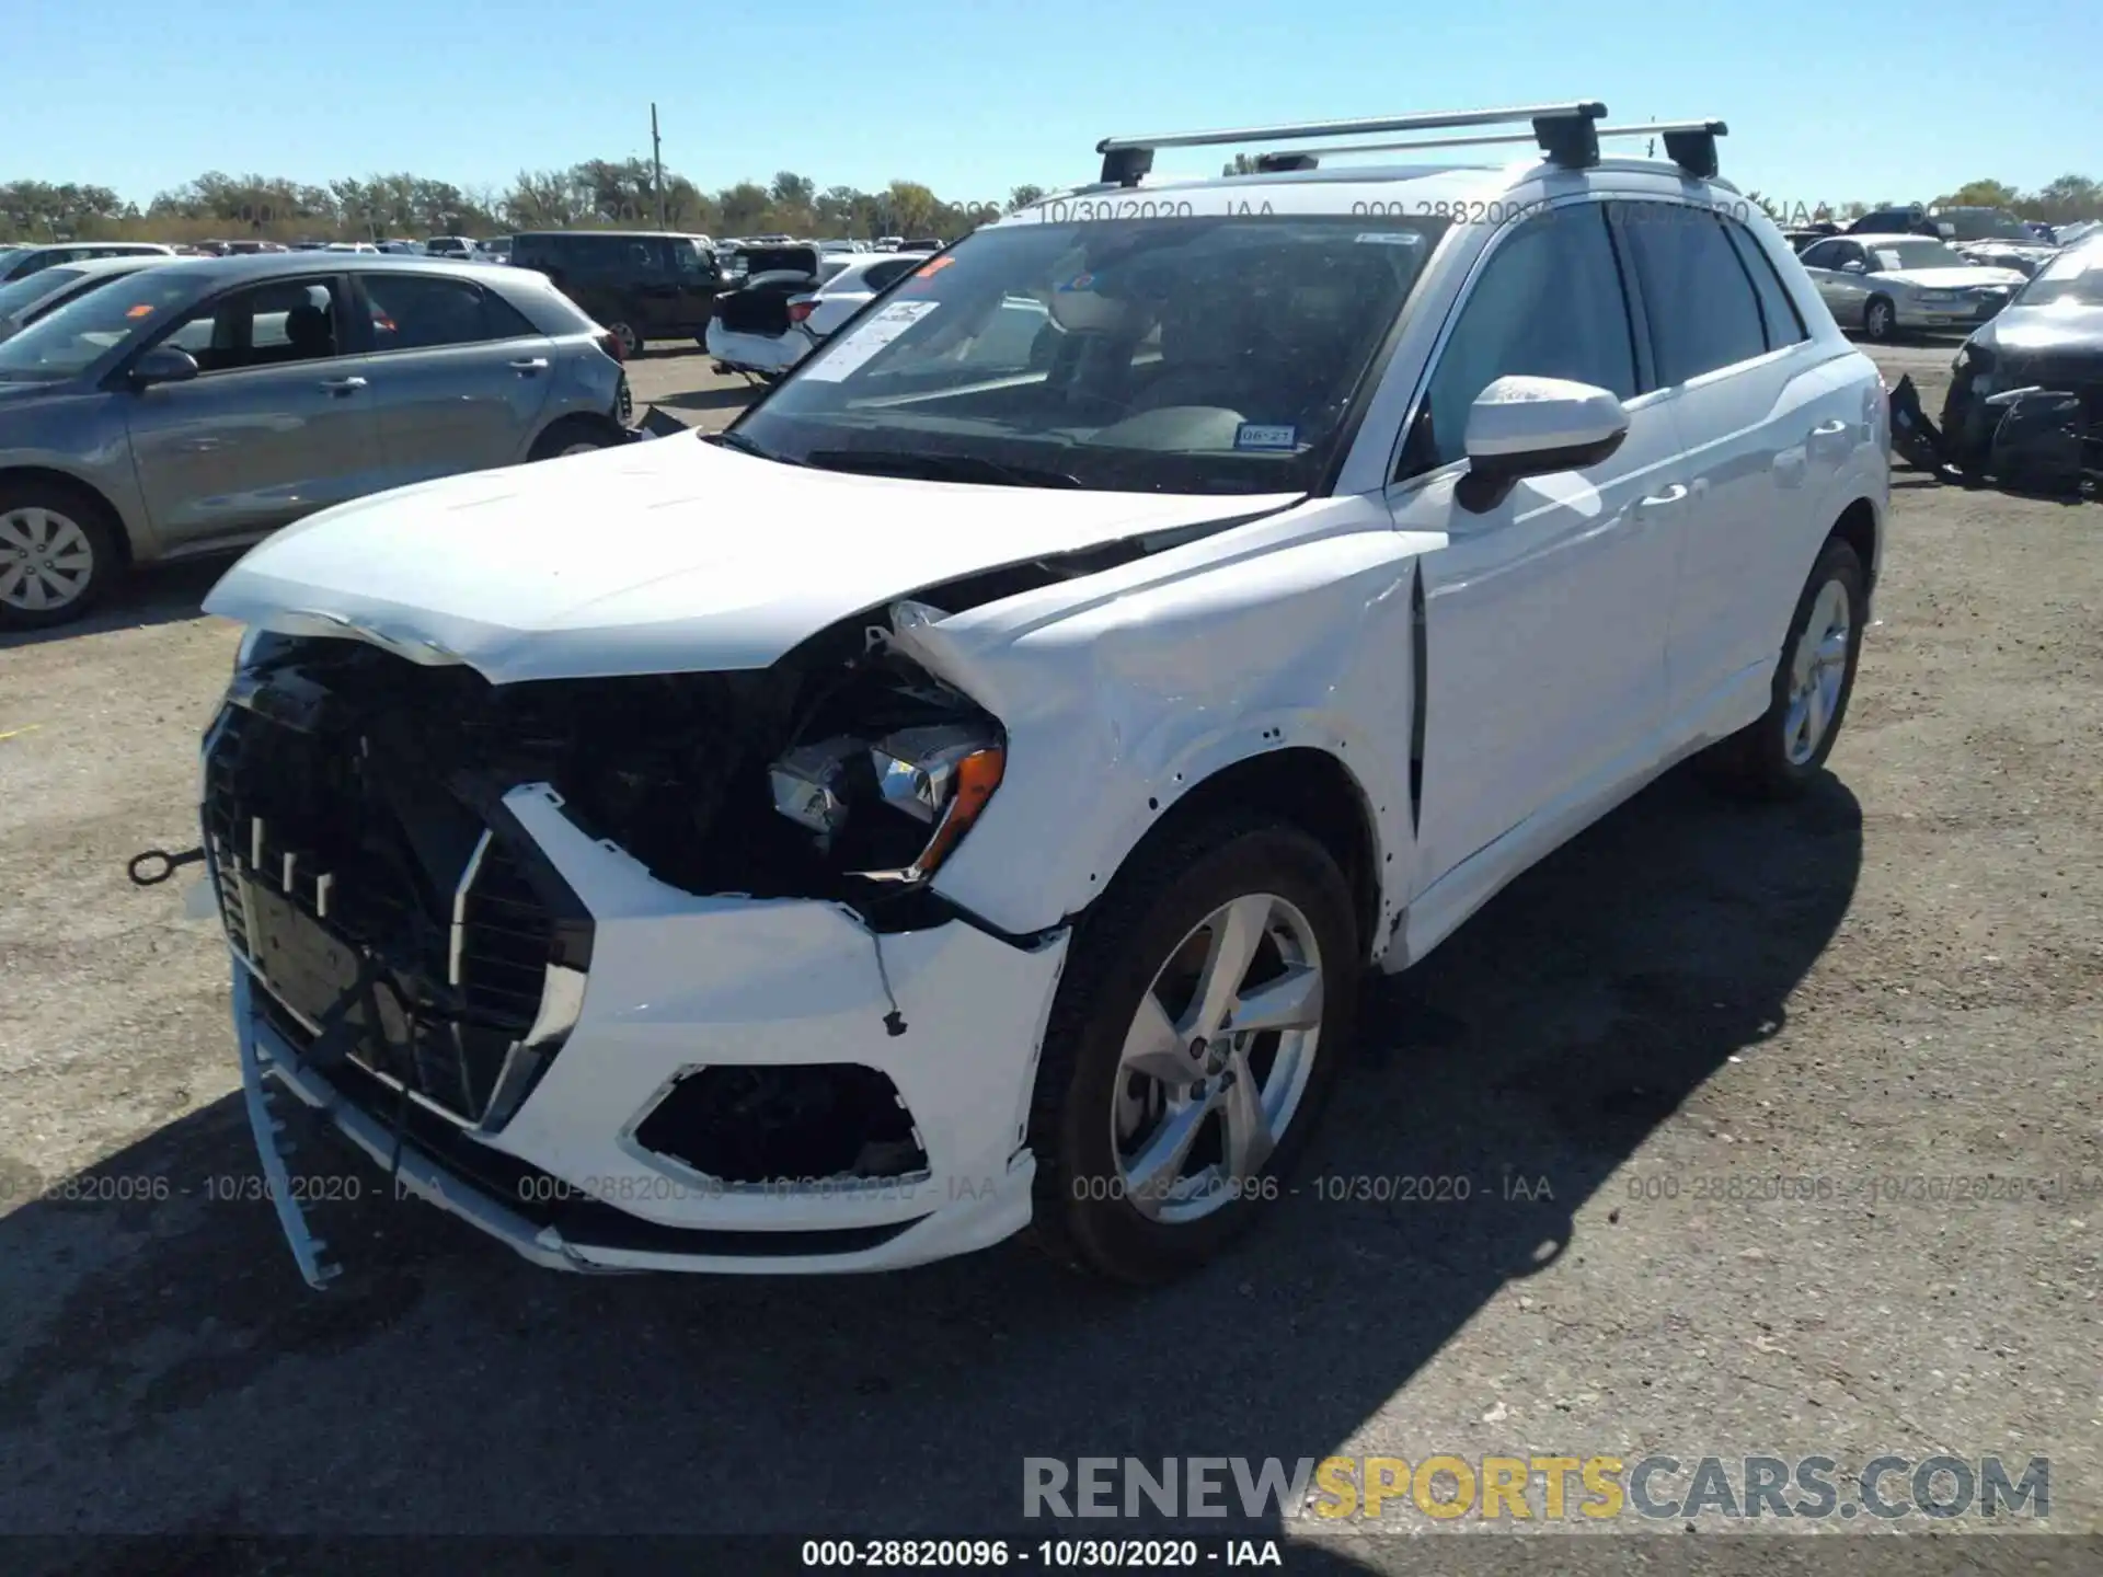
<path id="1" fill-rule="evenodd" d="M 1855 694 L 1867 582 L 1855 549 L 1828 538 L 1796 599 L 1767 713 L 1708 753 L 1708 776 L 1760 799 L 1792 799 L 1811 786 Z"/>

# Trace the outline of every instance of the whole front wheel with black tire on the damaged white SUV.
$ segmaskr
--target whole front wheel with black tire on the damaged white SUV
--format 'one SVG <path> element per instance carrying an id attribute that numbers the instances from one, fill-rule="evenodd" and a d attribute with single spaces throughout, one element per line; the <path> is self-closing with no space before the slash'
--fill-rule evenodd
<path id="1" fill-rule="evenodd" d="M 1350 883 L 1287 822 L 1142 849 L 1075 936 L 1045 1028 L 1039 1243 L 1148 1285 L 1247 1230 L 1335 1083 L 1361 953 Z"/>

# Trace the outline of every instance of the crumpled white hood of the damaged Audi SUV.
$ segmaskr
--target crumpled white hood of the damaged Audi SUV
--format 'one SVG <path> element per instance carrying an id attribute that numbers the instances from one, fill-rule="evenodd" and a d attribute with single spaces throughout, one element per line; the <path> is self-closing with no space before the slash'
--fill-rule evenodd
<path id="1" fill-rule="evenodd" d="M 494 683 L 761 669 L 940 580 L 1300 496 L 864 477 L 662 437 L 322 511 L 250 549 L 204 608 Z"/>

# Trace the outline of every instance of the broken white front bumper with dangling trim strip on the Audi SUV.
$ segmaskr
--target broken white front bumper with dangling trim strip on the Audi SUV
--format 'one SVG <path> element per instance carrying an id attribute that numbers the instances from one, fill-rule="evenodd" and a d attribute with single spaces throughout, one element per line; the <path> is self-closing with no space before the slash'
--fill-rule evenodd
<path id="1" fill-rule="evenodd" d="M 543 1266 L 887 1270 L 988 1247 L 1028 1222 L 1024 1123 L 1064 934 L 1016 946 L 948 921 L 879 938 L 831 902 L 696 898 L 589 839 L 545 784 L 503 803 L 589 910 L 593 944 L 580 1003 L 566 1009 L 574 1024 L 498 1129 L 379 1089 L 355 1062 L 328 1066 L 318 1035 L 297 1045 L 318 1026 L 294 1024 L 236 950 L 248 1110 L 313 1285 L 330 1266 L 288 1186 L 278 1091 L 389 1169 L 397 1194 Z M 652 1114 L 705 1070 L 763 1079 L 843 1064 L 896 1091 L 908 1169 L 732 1182 L 652 1148 Z"/>

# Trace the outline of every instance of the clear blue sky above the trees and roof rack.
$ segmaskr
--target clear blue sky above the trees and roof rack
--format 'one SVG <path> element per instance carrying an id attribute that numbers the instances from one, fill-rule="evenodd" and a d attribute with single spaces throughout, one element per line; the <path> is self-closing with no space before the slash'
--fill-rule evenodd
<path id="1" fill-rule="evenodd" d="M 97 0 L 6 34 L 38 86 L 0 109 L 0 179 L 139 202 L 208 168 L 507 185 L 648 156 L 652 99 L 702 189 L 1003 198 L 1089 179 L 1108 132 L 1571 97 L 1722 116 L 1724 175 L 1785 202 L 2103 177 L 2097 0 Z"/>

